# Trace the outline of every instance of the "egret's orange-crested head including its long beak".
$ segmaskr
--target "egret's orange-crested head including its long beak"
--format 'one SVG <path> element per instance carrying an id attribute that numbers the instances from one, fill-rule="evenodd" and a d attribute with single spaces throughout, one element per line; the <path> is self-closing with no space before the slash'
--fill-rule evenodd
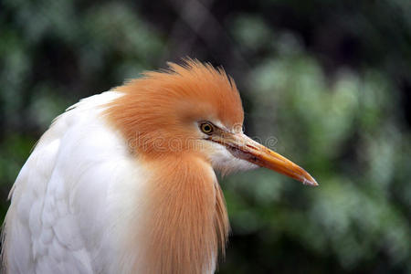
<path id="1" fill-rule="evenodd" d="M 186 59 L 116 90 L 123 96 L 107 112 L 141 157 L 201 157 L 225 174 L 262 166 L 317 185 L 300 166 L 243 133 L 241 99 L 222 68 Z"/>

